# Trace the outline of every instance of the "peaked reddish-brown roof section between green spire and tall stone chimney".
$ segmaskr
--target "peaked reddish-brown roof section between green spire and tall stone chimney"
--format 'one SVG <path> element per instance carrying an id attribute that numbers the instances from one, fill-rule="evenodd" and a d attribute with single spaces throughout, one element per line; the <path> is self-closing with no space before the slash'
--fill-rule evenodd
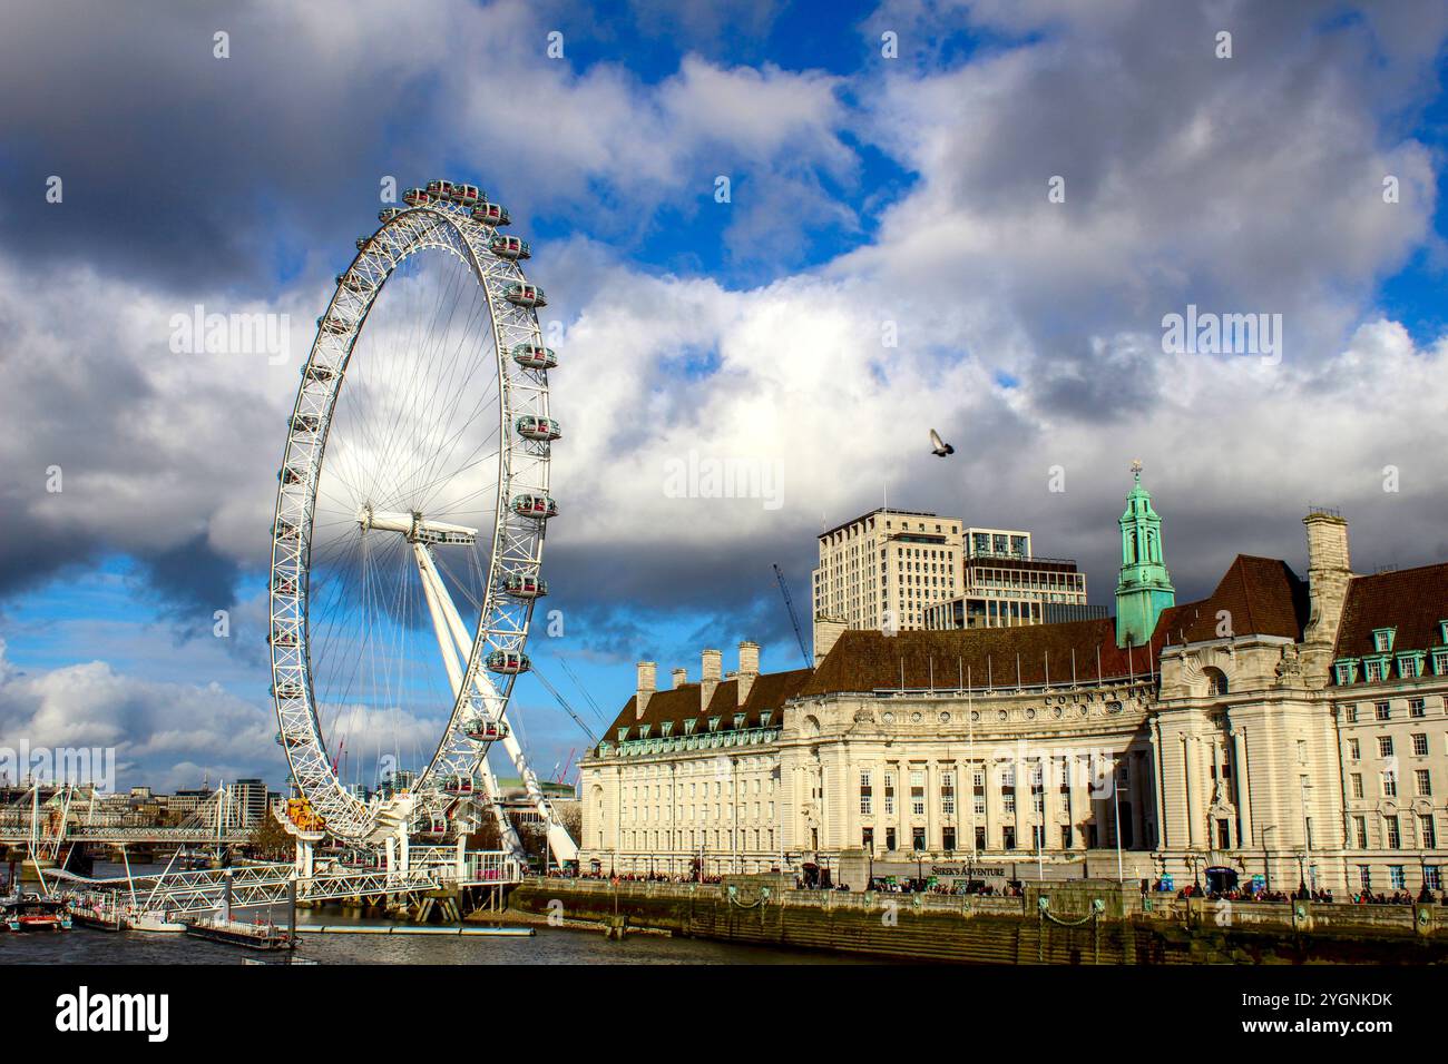
<path id="1" fill-rule="evenodd" d="M 1228 618 L 1219 618 L 1225 611 Z M 1308 583 L 1277 557 L 1238 554 L 1208 598 L 1164 609 L 1157 634 L 1169 643 L 1221 638 L 1218 627 L 1229 620 L 1234 636 L 1286 636 L 1302 638 L 1308 624 Z"/>

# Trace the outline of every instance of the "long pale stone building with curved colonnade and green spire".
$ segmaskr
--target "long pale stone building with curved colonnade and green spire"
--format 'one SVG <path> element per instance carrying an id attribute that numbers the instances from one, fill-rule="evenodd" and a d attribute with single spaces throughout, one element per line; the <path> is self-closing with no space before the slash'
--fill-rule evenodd
<path id="1" fill-rule="evenodd" d="M 818 617 L 814 669 L 763 673 L 753 643 L 668 688 L 640 663 L 581 763 L 582 870 L 1441 890 L 1448 565 L 1355 575 L 1341 515 L 1303 524 L 1305 578 L 1241 554 L 1177 604 L 1137 470 L 1114 618 Z M 938 598 L 961 586 L 947 573 Z"/>

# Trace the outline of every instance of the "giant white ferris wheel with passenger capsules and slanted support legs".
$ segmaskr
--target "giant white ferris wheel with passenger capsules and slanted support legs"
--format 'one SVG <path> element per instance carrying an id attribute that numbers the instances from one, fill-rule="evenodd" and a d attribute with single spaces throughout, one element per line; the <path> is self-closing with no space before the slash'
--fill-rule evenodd
<path id="1" fill-rule="evenodd" d="M 488 763 L 500 744 L 555 858 L 575 860 L 507 712 L 557 514 L 543 291 L 520 268 L 529 245 L 500 232 L 508 211 L 475 185 L 433 181 L 403 201 L 337 275 L 288 421 L 277 741 L 340 840 L 450 841 L 491 815 L 521 851 Z M 375 779 L 349 783 L 363 764 Z"/>

